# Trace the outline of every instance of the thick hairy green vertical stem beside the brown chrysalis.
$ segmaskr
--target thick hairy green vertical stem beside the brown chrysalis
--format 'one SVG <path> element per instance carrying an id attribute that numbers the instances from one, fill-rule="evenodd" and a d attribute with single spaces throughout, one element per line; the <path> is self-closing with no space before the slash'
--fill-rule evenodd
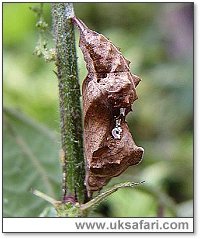
<path id="1" fill-rule="evenodd" d="M 79 203 L 85 195 L 83 129 L 75 48 L 72 3 L 53 3 L 53 31 L 60 100 L 60 127 L 63 151 L 63 201 L 74 197 Z"/>

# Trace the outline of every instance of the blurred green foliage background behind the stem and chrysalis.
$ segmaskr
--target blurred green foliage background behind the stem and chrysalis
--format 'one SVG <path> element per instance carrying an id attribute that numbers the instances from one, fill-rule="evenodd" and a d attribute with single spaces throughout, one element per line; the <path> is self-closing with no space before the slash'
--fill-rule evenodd
<path id="1" fill-rule="evenodd" d="M 3 4 L 3 188 L 4 216 L 9 217 L 53 215 L 48 204 L 29 193 L 31 187 L 58 199 L 61 194 L 57 78 L 54 64 L 32 54 L 38 36 L 29 7 L 36 5 Z M 145 149 L 144 160 L 109 185 L 146 183 L 119 190 L 93 215 L 193 216 L 193 4 L 74 7 L 86 25 L 120 47 L 132 72 L 142 78 L 127 120 Z M 50 4 L 44 4 L 44 15 L 52 45 Z M 78 47 L 77 52 L 82 81 L 85 63 Z"/>

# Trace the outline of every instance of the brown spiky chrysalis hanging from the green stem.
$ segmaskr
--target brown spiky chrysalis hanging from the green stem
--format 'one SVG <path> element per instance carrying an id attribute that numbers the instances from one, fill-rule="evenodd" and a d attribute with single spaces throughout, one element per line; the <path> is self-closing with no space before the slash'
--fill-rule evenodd
<path id="1" fill-rule="evenodd" d="M 84 147 L 89 195 L 142 160 L 125 121 L 137 99 L 139 77 L 131 74 L 130 62 L 103 35 L 73 18 L 80 30 L 87 77 L 83 82 Z"/>

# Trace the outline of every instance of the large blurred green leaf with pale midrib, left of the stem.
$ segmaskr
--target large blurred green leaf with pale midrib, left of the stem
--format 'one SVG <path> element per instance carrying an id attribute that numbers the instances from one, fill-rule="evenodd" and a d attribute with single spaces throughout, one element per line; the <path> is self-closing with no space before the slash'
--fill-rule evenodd
<path id="1" fill-rule="evenodd" d="M 39 216 L 46 206 L 30 189 L 60 197 L 61 167 L 55 134 L 23 116 L 4 109 L 3 215 Z"/>

